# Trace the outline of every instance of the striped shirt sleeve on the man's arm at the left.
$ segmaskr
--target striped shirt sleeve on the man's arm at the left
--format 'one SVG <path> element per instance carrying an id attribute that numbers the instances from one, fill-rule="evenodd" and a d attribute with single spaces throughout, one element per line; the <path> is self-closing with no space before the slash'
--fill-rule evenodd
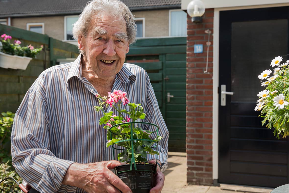
<path id="1" fill-rule="evenodd" d="M 15 114 L 11 134 L 12 164 L 39 192 L 75 192 L 76 187 L 62 185 L 68 167 L 74 162 L 58 159 L 49 150 L 48 108 L 40 93 L 29 89 Z"/>

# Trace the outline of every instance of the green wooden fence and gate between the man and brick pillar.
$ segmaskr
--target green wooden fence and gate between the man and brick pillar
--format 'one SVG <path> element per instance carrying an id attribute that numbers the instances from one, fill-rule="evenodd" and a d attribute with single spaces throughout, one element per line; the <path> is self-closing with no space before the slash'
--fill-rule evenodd
<path id="1" fill-rule="evenodd" d="M 127 63 L 144 68 L 170 132 L 169 151 L 186 151 L 186 37 L 139 39 Z M 168 99 L 167 95 L 172 95 Z"/>

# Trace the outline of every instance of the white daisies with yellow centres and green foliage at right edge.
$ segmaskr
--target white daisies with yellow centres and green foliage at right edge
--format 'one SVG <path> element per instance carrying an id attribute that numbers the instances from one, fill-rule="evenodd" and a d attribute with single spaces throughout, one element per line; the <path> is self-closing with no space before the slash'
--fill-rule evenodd
<path id="1" fill-rule="evenodd" d="M 262 125 L 274 128 L 274 136 L 289 135 L 289 60 L 281 64 L 281 56 L 271 61 L 271 70 L 263 71 L 258 78 L 265 89 L 257 94 L 255 111 L 261 111 Z"/>

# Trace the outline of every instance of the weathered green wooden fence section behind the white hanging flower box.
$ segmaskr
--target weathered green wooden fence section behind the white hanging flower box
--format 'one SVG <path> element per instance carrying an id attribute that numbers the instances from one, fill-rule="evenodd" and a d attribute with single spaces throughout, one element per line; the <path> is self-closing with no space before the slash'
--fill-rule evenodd
<path id="1" fill-rule="evenodd" d="M 26 70 L 0 68 L 0 111 L 16 112 L 25 93 L 43 70 L 55 65 L 58 58 L 76 58 L 77 46 L 15 27 L 1 25 L 0 35 L 12 36 L 12 41 L 21 40 L 22 46 L 44 46 L 36 59 L 30 61 Z"/>

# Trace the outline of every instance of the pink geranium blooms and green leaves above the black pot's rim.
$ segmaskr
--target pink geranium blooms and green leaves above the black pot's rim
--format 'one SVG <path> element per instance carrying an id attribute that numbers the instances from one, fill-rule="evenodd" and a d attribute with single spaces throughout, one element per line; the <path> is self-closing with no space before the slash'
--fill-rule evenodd
<path id="1" fill-rule="evenodd" d="M 135 163 L 148 162 L 147 154 L 159 155 L 157 151 L 153 150 L 152 146 L 158 143 L 162 137 L 157 136 L 155 139 L 151 139 L 150 135 L 154 132 L 136 126 L 137 123 L 135 122 L 139 119 L 144 119 L 146 116 L 143 113 L 141 104 L 128 103 L 127 93 L 121 90 L 114 90 L 112 93 L 108 92 L 107 97 L 101 97 L 100 95 L 96 95 L 96 97 L 100 106 L 95 106 L 94 108 L 97 112 L 102 111 L 103 113 L 99 124 L 104 124 L 103 128 L 107 130 L 108 141 L 106 147 L 117 144 L 124 148 L 123 152 L 118 153 L 120 162 L 133 162 L 132 152 Z M 127 105 L 129 110 L 122 109 L 121 104 Z M 118 115 L 115 115 L 112 111 L 106 113 L 104 107 L 108 108 L 108 106 L 113 107 L 118 112 Z M 129 140 L 132 137 L 134 140 Z"/>

